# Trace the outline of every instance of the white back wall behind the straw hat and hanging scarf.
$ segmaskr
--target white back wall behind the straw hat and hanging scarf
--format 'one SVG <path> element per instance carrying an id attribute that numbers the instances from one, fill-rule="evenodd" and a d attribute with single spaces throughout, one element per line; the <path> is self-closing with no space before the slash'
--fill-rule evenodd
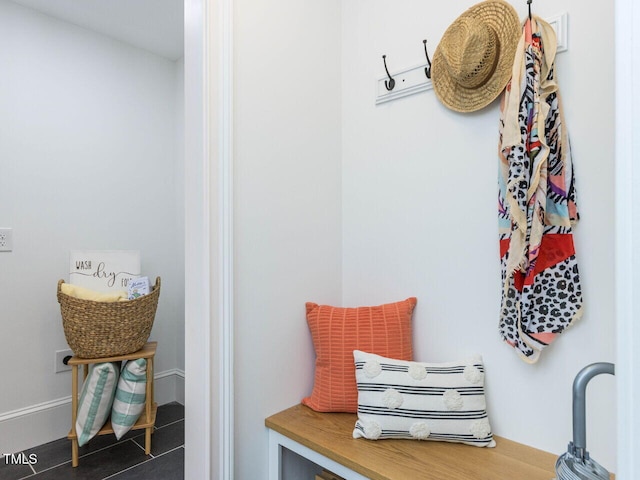
<path id="1" fill-rule="evenodd" d="M 480 352 L 495 433 L 560 454 L 572 437 L 575 374 L 615 359 L 613 6 L 533 3 L 543 17 L 569 13 L 569 51 L 558 57 L 557 78 L 577 172 L 585 314 L 538 364 L 527 365 L 498 335 L 497 105 L 461 115 L 433 91 L 374 105 L 382 54 L 391 71 L 425 63 L 422 40 L 433 54 L 447 26 L 474 3 L 343 3 L 343 300 L 417 296 L 416 358 Z M 512 4 L 523 18 L 526 2 Z M 594 379 L 587 397 L 587 447 L 609 470 L 616 461 L 614 382 Z"/>

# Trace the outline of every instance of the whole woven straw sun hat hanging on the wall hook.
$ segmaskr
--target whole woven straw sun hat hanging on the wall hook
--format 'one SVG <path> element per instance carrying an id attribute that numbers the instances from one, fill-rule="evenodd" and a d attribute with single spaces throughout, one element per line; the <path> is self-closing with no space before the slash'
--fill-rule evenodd
<path id="1" fill-rule="evenodd" d="M 504 90 L 522 27 L 515 9 L 502 0 L 469 8 L 444 32 L 433 55 L 433 89 L 456 112 L 474 112 Z"/>

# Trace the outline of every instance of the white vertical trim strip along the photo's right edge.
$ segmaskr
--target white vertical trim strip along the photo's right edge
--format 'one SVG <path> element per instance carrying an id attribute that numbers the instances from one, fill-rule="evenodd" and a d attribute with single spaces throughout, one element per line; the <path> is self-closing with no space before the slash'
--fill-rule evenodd
<path id="1" fill-rule="evenodd" d="M 640 450 L 637 438 L 640 416 L 637 403 L 640 399 L 638 365 L 640 352 L 640 259 L 639 242 L 634 233 L 640 231 L 640 175 L 634 169 L 634 157 L 640 145 L 640 94 L 635 86 L 640 75 L 637 59 L 640 56 L 640 39 L 637 22 L 640 8 L 634 8 L 633 0 L 615 2 L 615 211 L 616 211 L 616 327 L 617 327 L 617 478 L 638 478 Z M 637 161 L 635 161 L 638 165 Z M 634 248 L 635 247 L 635 248 Z"/>

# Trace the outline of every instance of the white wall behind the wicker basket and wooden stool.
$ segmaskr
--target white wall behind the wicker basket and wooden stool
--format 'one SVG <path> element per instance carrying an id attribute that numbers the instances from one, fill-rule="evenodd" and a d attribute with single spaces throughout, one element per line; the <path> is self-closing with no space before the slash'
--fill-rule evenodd
<path id="1" fill-rule="evenodd" d="M 0 64 L 0 225 L 14 233 L 0 254 L 1 416 L 70 394 L 53 359 L 71 249 L 141 251 L 163 280 L 156 371 L 175 369 L 184 248 L 176 63 L 3 0 Z M 68 423 L 56 428 L 40 433 Z M 42 441 L 10 436 L 0 451 Z"/>

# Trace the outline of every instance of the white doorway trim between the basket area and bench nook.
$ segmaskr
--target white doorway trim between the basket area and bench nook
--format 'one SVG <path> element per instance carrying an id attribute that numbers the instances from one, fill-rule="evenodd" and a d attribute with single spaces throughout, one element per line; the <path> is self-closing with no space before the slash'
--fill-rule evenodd
<path id="1" fill-rule="evenodd" d="M 185 478 L 233 479 L 232 0 L 185 0 Z"/>

